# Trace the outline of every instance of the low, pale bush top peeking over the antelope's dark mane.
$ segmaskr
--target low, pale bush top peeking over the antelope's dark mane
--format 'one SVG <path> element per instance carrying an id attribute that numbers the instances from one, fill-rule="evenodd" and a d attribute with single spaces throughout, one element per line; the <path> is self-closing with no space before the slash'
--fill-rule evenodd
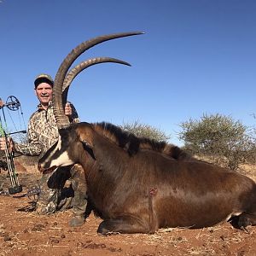
<path id="1" fill-rule="evenodd" d="M 119 125 L 119 127 L 125 131 L 133 133 L 137 137 L 148 137 L 149 139 L 154 139 L 156 141 L 167 141 L 170 138 L 170 136 L 166 135 L 163 131 L 160 131 L 160 129 L 151 125 L 140 124 L 138 121 L 124 123 L 123 125 Z"/>

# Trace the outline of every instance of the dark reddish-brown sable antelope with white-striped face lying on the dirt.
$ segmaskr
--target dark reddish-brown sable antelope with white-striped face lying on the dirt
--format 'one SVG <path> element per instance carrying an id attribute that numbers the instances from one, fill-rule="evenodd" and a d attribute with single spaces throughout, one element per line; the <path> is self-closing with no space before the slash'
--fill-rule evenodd
<path id="1" fill-rule="evenodd" d="M 107 123 L 69 125 L 61 91 L 68 68 L 85 49 L 138 33 L 94 38 L 67 55 L 55 78 L 60 138 L 38 162 L 40 172 L 79 163 L 88 195 L 103 219 L 98 232 L 154 233 L 165 227 L 203 228 L 230 220 L 256 224 L 256 184 L 237 172 L 189 157 L 180 148 L 138 138 Z M 65 101 L 65 99 L 64 99 Z"/>

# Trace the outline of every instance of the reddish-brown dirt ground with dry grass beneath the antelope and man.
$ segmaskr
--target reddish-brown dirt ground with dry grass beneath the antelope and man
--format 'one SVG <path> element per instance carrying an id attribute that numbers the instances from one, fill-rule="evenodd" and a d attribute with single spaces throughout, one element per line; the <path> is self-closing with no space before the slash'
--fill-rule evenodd
<path id="1" fill-rule="evenodd" d="M 39 174 L 18 168 L 23 191 L 38 183 Z M 9 188 L 7 172 L 0 173 L 0 188 Z M 31 212 L 32 201 L 25 197 L 0 195 L 0 256 L 2 255 L 256 255 L 256 227 L 250 234 L 229 223 L 212 228 L 162 229 L 154 235 L 112 235 L 96 233 L 101 219 L 90 214 L 79 228 L 67 224 L 71 210 L 38 216 Z"/>

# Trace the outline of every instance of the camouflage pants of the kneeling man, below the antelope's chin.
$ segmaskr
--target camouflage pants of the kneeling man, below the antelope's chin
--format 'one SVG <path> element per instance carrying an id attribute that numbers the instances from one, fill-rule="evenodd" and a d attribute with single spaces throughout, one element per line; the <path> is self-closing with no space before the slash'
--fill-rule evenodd
<path id="1" fill-rule="evenodd" d="M 74 216 L 84 216 L 87 186 L 82 166 L 59 167 L 53 174 L 43 174 L 40 189 L 37 203 L 39 214 L 49 214 L 73 207 Z"/>

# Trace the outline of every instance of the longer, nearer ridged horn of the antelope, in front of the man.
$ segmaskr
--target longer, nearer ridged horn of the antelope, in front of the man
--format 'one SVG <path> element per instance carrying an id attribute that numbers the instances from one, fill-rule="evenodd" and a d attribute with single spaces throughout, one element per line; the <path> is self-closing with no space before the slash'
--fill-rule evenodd
<path id="1" fill-rule="evenodd" d="M 53 88 L 53 107 L 54 107 L 54 114 L 56 119 L 56 124 L 58 129 L 65 128 L 69 125 L 69 121 L 67 116 L 64 114 L 64 109 L 62 108 L 62 86 L 67 74 L 69 67 L 73 64 L 79 55 L 84 53 L 85 50 L 90 49 L 91 47 L 95 46 L 96 44 L 101 44 L 108 40 L 112 40 L 115 38 L 124 38 L 129 36 L 135 36 L 143 34 L 143 32 L 124 32 L 124 33 L 117 33 L 111 35 L 105 35 L 97 38 L 90 39 L 85 41 L 82 44 L 79 44 L 76 48 L 74 48 L 62 61 L 61 66 L 58 69 L 58 72 L 55 76 L 55 86 Z"/>

